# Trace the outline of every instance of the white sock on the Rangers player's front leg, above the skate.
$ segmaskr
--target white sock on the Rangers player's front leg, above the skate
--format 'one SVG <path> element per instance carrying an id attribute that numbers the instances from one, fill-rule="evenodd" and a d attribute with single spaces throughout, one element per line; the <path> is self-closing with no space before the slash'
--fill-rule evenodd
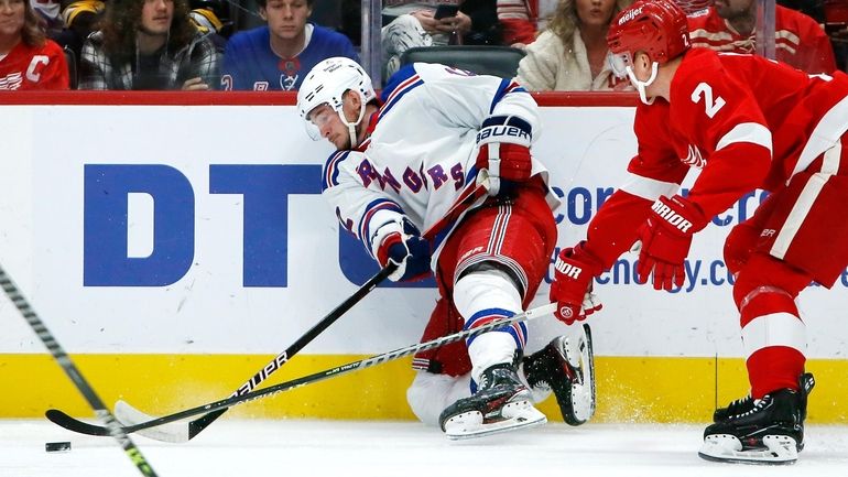
<path id="1" fill-rule="evenodd" d="M 502 310 L 512 314 L 522 312 L 521 294 L 512 280 L 503 272 L 487 270 L 463 277 L 454 286 L 454 304 L 468 322 L 472 316 L 487 310 Z M 471 358 L 471 379 L 479 382 L 482 371 L 492 365 L 511 362 L 518 343 L 526 339 L 523 330 L 511 333 L 489 332 L 477 336 L 468 345 Z"/>

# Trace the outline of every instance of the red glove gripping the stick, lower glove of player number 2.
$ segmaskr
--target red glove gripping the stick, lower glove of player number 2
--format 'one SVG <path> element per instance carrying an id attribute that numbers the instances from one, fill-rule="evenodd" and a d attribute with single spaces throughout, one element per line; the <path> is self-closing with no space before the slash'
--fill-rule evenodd
<path id="1" fill-rule="evenodd" d="M 591 293 L 591 281 L 604 268 L 595 256 L 580 242 L 575 248 L 563 249 L 554 265 L 551 284 L 551 302 L 556 302 L 554 315 L 566 325 L 597 312 L 604 305 Z"/>

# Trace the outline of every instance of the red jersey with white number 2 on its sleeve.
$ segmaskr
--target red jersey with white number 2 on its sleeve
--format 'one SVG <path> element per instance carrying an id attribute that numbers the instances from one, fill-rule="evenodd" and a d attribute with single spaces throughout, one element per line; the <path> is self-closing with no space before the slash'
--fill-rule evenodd
<path id="1" fill-rule="evenodd" d="M 589 250 L 610 265 L 635 240 L 650 205 L 700 169 L 688 198 L 707 217 L 755 188 L 773 191 L 848 129 L 848 76 L 807 75 L 759 56 L 686 52 L 671 101 L 637 107 L 630 180 L 599 210 Z"/>

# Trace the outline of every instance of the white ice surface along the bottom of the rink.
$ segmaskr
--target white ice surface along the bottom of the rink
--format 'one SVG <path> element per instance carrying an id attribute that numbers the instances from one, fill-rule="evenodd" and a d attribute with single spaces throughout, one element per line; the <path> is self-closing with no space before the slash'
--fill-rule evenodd
<path id="1" fill-rule="evenodd" d="M 587 424 L 465 442 L 412 422 L 221 420 L 186 444 L 134 436 L 161 477 L 696 477 L 848 475 L 848 426 L 807 426 L 791 466 L 716 464 L 697 456 L 700 425 Z M 46 453 L 45 442 L 72 451 Z M 0 421 L 0 477 L 138 477 L 109 437 L 46 420 Z"/>

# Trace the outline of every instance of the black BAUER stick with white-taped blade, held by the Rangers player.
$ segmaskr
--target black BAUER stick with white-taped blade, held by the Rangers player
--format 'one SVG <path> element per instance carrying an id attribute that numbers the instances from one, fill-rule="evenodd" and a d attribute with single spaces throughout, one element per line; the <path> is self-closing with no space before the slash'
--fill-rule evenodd
<path id="1" fill-rule="evenodd" d="M 446 224 L 457 220 L 458 217 L 461 216 L 461 214 L 468 210 L 472 205 L 477 203 L 479 198 L 483 197 L 487 194 L 488 188 L 489 188 L 488 172 L 480 171 L 480 173 L 478 173 L 478 177 L 475 183 L 475 186 L 467 187 L 459 195 L 459 197 L 457 197 L 457 199 L 454 202 L 454 204 L 450 206 L 447 213 L 445 213 L 442 220 L 431 226 L 430 229 L 424 232 L 424 237 L 427 239 L 432 239 L 433 235 L 435 235 L 436 231 L 441 230 L 442 227 L 445 227 Z M 394 267 L 391 267 L 391 269 L 390 267 L 387 267 L 380 272 L 378 272 L 374 277 L 368 280 L 368 282 L 366 282 L 366 284 L 363 284 L 354 295 L 345 300 L 345 302 L 338 305 L 333 312 L 329 313 L 329 315 L 322 318 L 322 321 L 318 322 L 315 326 L 313 326 L 312 329 L 306 332 L 305 335 L 298 338 L 285 351 L 278 355 L 273 360 L 271 360 L 271 362 L 269 362 L 262 369 L 260 369 L 256 375 L 253 375 L 252 378 L 250 378 L 247 382 L 241 384 L 229 397 L 233 398 L 233 397 L 242 395 L 252 391 L 262 381 L 268 379 L 269 376 L 271 376 L 274 371 L 280 369 L 281 366 L 287 362 L 292 358 L 292 356 L 297 354 L 316 336 L 318 336 L 320 333 L 327 329 L 327 327 L 329 327 L 329 325 L 335 323 L 336 319 L 338 319 L 343 314 L 345 314 L 348 310 L 350 310 L 355 304 L 359 303 L 359 301 L 361 301 L 379 283 L 384 281 L 394 270 L 395 270 Z M 152 415 L 149 415 L 146 413 L 139 411 L 138 409 L 133 408 L 128 402 L 122 400 L 119 400 L 116 403 L 115 412 L 120 418 L 120 421 L 124 423 L 124 425 L 133 425 L 141 422 L 152 421 L 155 419 Z M 192 438 L 194 438 L 194 436 L 199 434 L 204 429 L 209 426 L 209 424 L 215 422 L 215 420 L 220 418 L 221 414 L 224 414 L 225 412 L 227 412 L 227 408 L 221 409 L 219 411 L 210 412 L 204 416 L 200 416 L 194 421 L 188 422 L 187 424 L 174 423 L 167 426 L 164 426 L 164 425 L 157 426 L 150 431 L 141 430 L 139 434 L 145 437 L 154 438 L 156 441 L 174 442 L 174 443 L 188 442 Z M 48 415 L 48 419 L 50 419 L 50 415 Z"/>

